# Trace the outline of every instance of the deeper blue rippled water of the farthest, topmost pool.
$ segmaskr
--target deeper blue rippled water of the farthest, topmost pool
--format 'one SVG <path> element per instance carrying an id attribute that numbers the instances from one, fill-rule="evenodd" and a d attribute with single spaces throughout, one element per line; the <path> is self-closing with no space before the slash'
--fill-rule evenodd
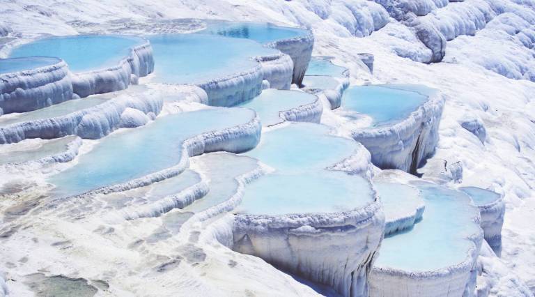
<path id="1" fill-rule="evenodd" d="M 199 33 L 217 34 L 232 38 L 247 38 L 258 43 L 295 38 L 307 35 L 308 31 L 269 23 L 206 21 L 207 26 Z"/>

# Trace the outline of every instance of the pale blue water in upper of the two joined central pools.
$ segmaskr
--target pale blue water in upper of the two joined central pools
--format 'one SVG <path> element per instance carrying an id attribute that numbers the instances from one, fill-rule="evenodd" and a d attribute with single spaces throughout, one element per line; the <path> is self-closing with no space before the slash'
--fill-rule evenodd
<path id="1" fill-rule="evenodd" d="M 316 123 L 291 123 L 265 132 L 260 144 L 245 153 L 279 172 L 321 170 L 352 155 L 357 143 L 327 135 L 329 128 Z"/>

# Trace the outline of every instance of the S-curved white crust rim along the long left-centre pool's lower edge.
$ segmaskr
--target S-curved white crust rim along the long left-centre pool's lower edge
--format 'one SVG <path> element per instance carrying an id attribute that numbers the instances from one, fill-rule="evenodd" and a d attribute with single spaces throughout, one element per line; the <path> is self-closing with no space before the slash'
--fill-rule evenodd
<path id="1" fill-rule="evenodd" d="M 231 153 L 249 151 L 260 142 L 261 129 L 261 123 L 258 116 L 255 114 L 253 119 L 242 125 L 235 125 L 231 128 L 213 130 L 196 135 L 183 142 L 182 150 L 180 152 L 182 158 L 180 158 L 178 164 L 160 170 L 159 172 L 154 172 L 140 178 L 134 178 L 125 183 L 118 183 L 90 190 L 81 195 L 77 195 L 76 197 L 83 198 L 97 194 L 106 195 L 111 192 L 123 192 L 125 190 L 141 188 L 152 183 L 157 183 L 158 181 L 163 181 L 184 172 L 184 170 L 189 167 L 189 157 L 194 155 L 201 155 L 203 153 L 211 153 L 215 151 L 228 151 Z M 53 201 L 53 204 L 56 204 L 58 200 L 67 198 L 70 197 L 56 199 Z"/>

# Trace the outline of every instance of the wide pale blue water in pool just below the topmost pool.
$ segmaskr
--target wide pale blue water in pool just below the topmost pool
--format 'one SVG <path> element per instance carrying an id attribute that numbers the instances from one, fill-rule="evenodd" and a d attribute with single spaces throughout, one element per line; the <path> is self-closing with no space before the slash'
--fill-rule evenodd
<path id="1" fill-rule="evenodd" d="M 256 66 L 250 58 L 277 53 L 251 40 L 203 34 L 147 36 L 155 57 L 154 81 L 195 84 Z"/>

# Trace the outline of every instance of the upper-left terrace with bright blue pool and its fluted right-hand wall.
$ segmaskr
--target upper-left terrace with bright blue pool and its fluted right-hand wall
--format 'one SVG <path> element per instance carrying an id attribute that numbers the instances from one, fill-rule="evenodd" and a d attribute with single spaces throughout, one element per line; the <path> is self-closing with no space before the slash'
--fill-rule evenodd
<path id="1" fill-rule="evenodd" d="M 75 98 L 126 89 L 154 70 L 152 47 L 133 36 L 54 36 L 14 47 L 9 57 L 56 56 L 68 64 Z"/>

